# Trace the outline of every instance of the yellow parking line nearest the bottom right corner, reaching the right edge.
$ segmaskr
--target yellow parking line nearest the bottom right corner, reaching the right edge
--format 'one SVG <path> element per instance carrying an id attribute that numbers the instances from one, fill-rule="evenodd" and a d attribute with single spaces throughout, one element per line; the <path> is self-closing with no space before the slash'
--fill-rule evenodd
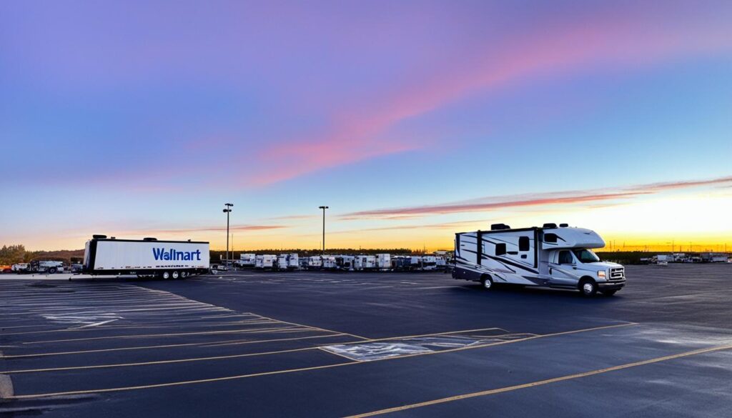
<path id="1" fill-rule="evenodd" d="M 351 415 L 350 417 L 347 417 L 347 418 L 375 417 L 376 415 L 390 414 L 392 412 L 405 411 L 407 409 L 422 408 L 423 406 L 436 405 L 438 403 L 447 403 L 447 402 L 452 402 L 455 400 L 477 398 L 479 396 L 496 395 L 497 393 L 511 392 L 511 391 L 518 390 L 518 389 L 537 387 L 537 386 L 542 386 L 545 384 L 556 383 L 559 381 L 567 381 L 567 380 L 572 380 L 575 378 L 594 376 L 594 375 L 599 375 L 602 373 L 612 372 L 615 370 L 623 370 L 623 369 L 628 369 L 630 367 L 638 367 L 638 366 L 649 365 L 649 364 L 657 363 L 657 362 L 665 362 L 667 360 L 679 359 L 681 357 L 689 357 L 689 356 L 695 356 L 698 354 L 706 354 L 706 353 L 712 353 L 714 351 L 722 351 L 722 350 L 729 350 L 729 349 L 732 349 L 732 344 L 727 345 L 727 346 L 701 348 L 700 350 L 686 351 L 684 353 L 672 354 L 671 356 L 656 357 L 654 359 L 643 360 L 641 362 L 632 362 L 632 363 L 627 363 L 624 365 L 605 367 L 604 369 L 591 370 L 589 372 L 583 372 L 583 373 L 575 373 L 575 374 L 568 375 L 568 376 L 561 376 L 561 377 L 557 377 L 557 378 L 548 378 L 545 380 L 532 381 L 530 383 L 525 383 L 525 384 L 517 384 L 515 386 L 500 387 L 498 389 L 488 389 L 488 390 L 484 390 L 482 392 L 466 393 L 464 395 L 451 396 L 449 398 L 427 400 L 426 402 L 412 403 L 410 405 L 403 405 L 403 406 L 396 406 L 395 408 L 380 409 L 378 411 L 371 411 L 371 412 L 367 412 L 365 414 Z"/>

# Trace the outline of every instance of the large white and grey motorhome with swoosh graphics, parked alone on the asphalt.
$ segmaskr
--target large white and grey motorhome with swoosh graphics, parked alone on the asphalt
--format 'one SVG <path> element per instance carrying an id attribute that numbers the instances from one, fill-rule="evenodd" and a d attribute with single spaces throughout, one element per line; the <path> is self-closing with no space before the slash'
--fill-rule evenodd
<path id="1" fill-rule="evenodd" d="M 625 285 L 620 264 L 600 261 L 591 249 L 605 247 L 596 232 L 545 223 L 512 229 L 502 223 L 490 231 L 455 234 L 452 277 L 480 282 L 578 289 L 585 296 L 615 294 Z"/>

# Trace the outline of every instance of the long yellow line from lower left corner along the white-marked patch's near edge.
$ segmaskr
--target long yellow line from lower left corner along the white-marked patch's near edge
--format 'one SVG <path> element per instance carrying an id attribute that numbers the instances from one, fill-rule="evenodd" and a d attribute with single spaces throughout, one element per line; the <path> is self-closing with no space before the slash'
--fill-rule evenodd
<path id="1" fill-rule="evenodd" d="M 162 384 L 149 384 L 149 385 L 131 386 L 131 387 L 113 387 L 113 388 L 108 388 L 108 389 L 89 389 L 89 390 L 75 390 L 75 391 L 69 391 L 69 392 L 40 393 L 40 394 L 35 394 L 35 395 L 18 395 L 18 396 L 15 396 L 14 399 L 46 398 L 49 396 L 82 395 L 82 394 L 87 394 L 87 393 L 122 392 L 122 391 L 135 390 L 135 389 L 152 389 L 152 388 L 156 388 L 156 387 L 171 387 L 171 386 L 181 386 L 184 384 L 199 384 L 199 383 L 207 383 L 207 382 L 213 382 L 213 381 L 228 381 L 228 380 L 235 380 L 235 379 L 240 379 L 240 378 L 270 376 L 270 375 L 277 375 L 277 374 L 283 374 L 283 373 L 296 373 L 296 372 L 307 371 L 307 370 L 320 370 L 320 369 L 326 369 L 326 368 L 331 368 L 331 367 L 340 367 L 340 366 L 347 366 L 347 365 L 361 365 L 361 364 L 367 364 L 367 363 L 372 363 L 372 362 L 384 362 L 384 361 L 388 361 L 388 360 L 405 359 L 408 357 L 421 357 L 421 356 L 429 356 L 429 355 L 434 355 L 434 354 L 445 354 L 445 353 L 451 353 L 451 352 L 455 352 L 455 351 L 464 351 L 464 350 L 472 350 L 472 349 L 476 349 L 476 348 L 499 346 L 499 345 L 507 344 L 507 343 L 518 343 L 520 341 L 534 340 L 536 338 L 542 338 L 542 337 L 553 337 L 556 335 L 575 334 L 578 332 L 589 332 L 589 331 L 594 331 L 594 330 L 598 330 L 598 329 L 617 328 L 619 326 L 630 326 L 630 325 L 636 325 L 636 324 L 635 323 L 626 323 L 626 324 L 616 324 L 616 325 L 607 325 L 607 326 L 596 326 L 594 328 L 576 329 L 574 331 L 556 332 L 554 334 L 544 334 L 544 335 L 537 335 L 535 337 L 526 337 L 526 338 L 523 338 L 520 340 L 509 340 L 509 341 L 504 341 L 504 342 L 500 342 L 500 343 L 486 344 L 485 346 L 468 346 L 468 347 L 460 347 L 460 348 L 451 348 L 451 349 L 442 350 L 442 351 L 433 351 L 430 353 L 407 354 L 405 356 L 386 357 L 384 359 L 376 359 L 376 360 L 371 360 L 369 362 L 356 362 L 354 360 L 351 360 L 351 362 L 337 363 L 335 365 L 322 365 L 322 366 L 313 366 L 313 367 L 302 367 L 302 368 L 297 368 L 297 369 L 275 370 L 272 372 L 251 373 L 251 374 L 237 375 L 237 376 L 224 376 L 224 377 L 220 377 L 220 378 L 206 378 L 206 379 L 198 379 L 198 380 L 190 380 L 190 381 L 174 381 L 174 382 L 162 383 Z M 441 334 L 444 334 L 444 333 L 441 333 Z M 364 342 L 367 343 L 368 341 L 364 341 Z M 313 348 L 319 348 L 319 347 L 313 347 Z"/>

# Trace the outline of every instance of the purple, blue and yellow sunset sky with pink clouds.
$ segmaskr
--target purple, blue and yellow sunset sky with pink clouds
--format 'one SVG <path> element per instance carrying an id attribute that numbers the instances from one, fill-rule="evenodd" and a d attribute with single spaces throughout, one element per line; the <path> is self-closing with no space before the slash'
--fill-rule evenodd
<path id="1" fill-rule="evenodd" d="M 2 1 L 0 245 L 732 250 L 732 1 Z"/>

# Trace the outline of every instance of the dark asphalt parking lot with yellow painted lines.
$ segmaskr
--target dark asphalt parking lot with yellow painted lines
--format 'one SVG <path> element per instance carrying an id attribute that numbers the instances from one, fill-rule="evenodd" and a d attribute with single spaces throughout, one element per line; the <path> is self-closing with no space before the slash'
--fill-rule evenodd
<path id="1" fill-rule="evenodd" d="M 732 265 L 616 296 L 441 273 L 0 276 L 0 414 L 730 417 Z"/>

